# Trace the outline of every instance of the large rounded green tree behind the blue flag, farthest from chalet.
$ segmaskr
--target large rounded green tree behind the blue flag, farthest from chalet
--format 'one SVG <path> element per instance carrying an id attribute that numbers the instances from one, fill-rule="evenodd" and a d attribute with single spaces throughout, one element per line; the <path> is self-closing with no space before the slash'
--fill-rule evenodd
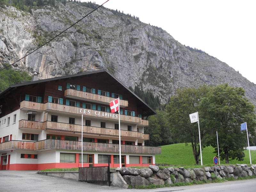
<path id="1" fill-rule="evenodd" d="M 247 138 L 246 131 L 240 131 L 240 124 L 247 122 L 251 140 L 256 126 L 254 105 L 245 98 L 244 89 L 228 84 L 218 85 L 202 99 L 200 108 L 205 112 L 205 126 L 210 131 L 205 137 L 205 145 L 214 147 L 217 154 L 218 131 L 220 158 L 225 159 L 226 164 L 230 158 L 243 160 Z"/>

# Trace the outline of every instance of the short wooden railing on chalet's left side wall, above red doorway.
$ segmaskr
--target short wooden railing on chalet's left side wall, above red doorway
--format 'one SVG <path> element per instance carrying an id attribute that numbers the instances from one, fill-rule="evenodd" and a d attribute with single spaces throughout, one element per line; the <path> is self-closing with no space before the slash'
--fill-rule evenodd
<path id="1" fill-rule="evenodd" d="M 0 144 L 0 151 L 9 149 L 26 149 L 34 150 L 34 141 L 17 141 L 11 140 Z"/>

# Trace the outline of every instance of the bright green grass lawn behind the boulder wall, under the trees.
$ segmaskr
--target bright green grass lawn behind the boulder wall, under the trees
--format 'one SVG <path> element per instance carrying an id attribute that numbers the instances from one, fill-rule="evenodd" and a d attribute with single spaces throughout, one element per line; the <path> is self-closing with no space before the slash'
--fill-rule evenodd
<path id="1" fill-rule="evenodd" d="M 202 150 L 203 165 L 214 165 L 213 157 L 216 155 L 212 147 L 206 147 Z M 250 164 L 249 151 L 244 150 L 244 161 L 229 160 L 229 164 Z M 256 151 L 251 150 L 252 164 L 256 164 Z M 200 157 L 199 157 L 200 158 Z M 156 164 L 172 165 L 195 165 L 195 159 L 191 144 L 177 143 L 162 146 L 162 154 L 156 155 Z M 225 164 L 225 160 L 220 160 L 220 164 Z"/>

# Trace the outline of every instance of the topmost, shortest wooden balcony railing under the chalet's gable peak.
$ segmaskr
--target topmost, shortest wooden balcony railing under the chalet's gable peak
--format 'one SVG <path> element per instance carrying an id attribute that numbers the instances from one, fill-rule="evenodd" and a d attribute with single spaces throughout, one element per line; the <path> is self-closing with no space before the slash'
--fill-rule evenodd
<path id="1" fill-rule="evenodd" d="M 78 100 L 87 100 L 87 101 L 93 101 L 93 102 L 100 102 L 103 104 L 109 104 L 109 102 L 113 101 L 115 98 L 107 97 L 103 95 L 98 95 L 94 93 L 88 93 L 83 91 L 78 91 L 75 89 L 66 89 L 65 90 L 65 97 L 68 98 L 75 98 Z M 128 101 L 127 100 L 120 100 L 120 106 L 121 107 L 128 107 Z"/>

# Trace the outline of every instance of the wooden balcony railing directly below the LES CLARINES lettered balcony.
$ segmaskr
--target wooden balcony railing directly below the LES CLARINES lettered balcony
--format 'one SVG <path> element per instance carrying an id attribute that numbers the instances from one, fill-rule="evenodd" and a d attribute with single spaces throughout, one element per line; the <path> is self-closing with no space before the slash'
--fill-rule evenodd
<path id="1" fill-rule="evenodd" d="M 78 124 L 68 124 L 68 123 L 59 123 L 59 122 L 38 122 L 38 121 L 28 121 L 28 120 L 20 120 L 19 128 L 29 128 L 29 129 L 39 129 L 39 130 L 47 130 L 54 132 L 68 132 L 68 133 L 81 133 L 81 125 Z M 92 127 L 92 126 L 83 126 L 84 134 L 94 134 L 94 135 L 103 135 L 103 136 L 112 136 L 118 137 L 119 132 L 117 129 L 111 128 L 101 128 L 101 127 Z M 122 137 L 133 137 L 142 140 L 148 140 L 149 135 L 144 134 L 142 132 L 136 131 L 128 131 L 121 130 Z"/>

